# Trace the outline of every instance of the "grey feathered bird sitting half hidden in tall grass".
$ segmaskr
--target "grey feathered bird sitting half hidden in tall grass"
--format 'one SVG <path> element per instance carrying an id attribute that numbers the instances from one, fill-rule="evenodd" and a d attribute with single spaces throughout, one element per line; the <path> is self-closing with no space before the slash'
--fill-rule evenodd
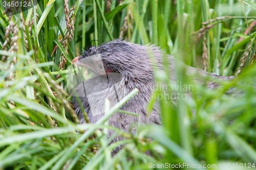
<path id="1" fill-rule="evenodd" d="M 163 56 L 167 55 L 155 45 L 134 44 L 126 40 L 115 39 L 103 43 L 98 47 L 91 46 L 82 54 L 72 60 L 72 64 L 81 68 L 87 68 L 89 79 L 78 82 L 73 88 L 76 96 L 73 96 L 75 113 L 80 123 L 86 123 L 83 110 L 87 113 L 89 123 L 95 123 L 104 115 L 104 100 L 110 100 L 113 107 L 125 95 L 137 88 L 138 93 L 120 109 L 133 112 L 140 116 L 142 124 L 161 125 L 161 114 L 159 104 L 155 104 L 151 114 L 147 113 L 147 105 L 152 93 L 156 88 L 154 68 L 163 69 Z M 155 64 L 152 62 L 152 58 Z M 177 81 L 176 59 L 167 55 L 169 66 L 169 79 Z M 222 77 L 205 70 L 187 66 L 187 75 L 199 74 L 217 79 L 232 79 L 233 77 Z M 88 71 L 91 71 L 90 73 Z M 83 73 L 82 75 L 84 75 Z M 215 88 L 216 83 L 209 83 L 209 88 Z M 78 102 L 81 101 L 81 107 Z M 109 118 L 109 125 L 119 128 L 126 133 L 134 133 L 134 123 L 138 123 L 139 117 L 131 114 L 117 112 Z M 113 131 L 109 132 L 109 137 Z M 113 142 L 122 140 L 121 137 L 114 138 Z M 120 149 L 120 148 L 119 148 Z M 119 150 L 118 149 L 118 150 Z"/>

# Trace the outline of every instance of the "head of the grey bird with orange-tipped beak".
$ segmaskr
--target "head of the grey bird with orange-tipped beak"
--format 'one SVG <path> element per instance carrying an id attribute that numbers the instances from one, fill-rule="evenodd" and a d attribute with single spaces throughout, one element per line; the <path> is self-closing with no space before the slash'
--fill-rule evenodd
<path id="1" fill-rule="evenodd" d="M 99 75 L 120 73 L 125 82 L 147 83 L 153 71 L 145 46 L 114 40 L 83 51 L 72 63 L 94 70 Z"/>

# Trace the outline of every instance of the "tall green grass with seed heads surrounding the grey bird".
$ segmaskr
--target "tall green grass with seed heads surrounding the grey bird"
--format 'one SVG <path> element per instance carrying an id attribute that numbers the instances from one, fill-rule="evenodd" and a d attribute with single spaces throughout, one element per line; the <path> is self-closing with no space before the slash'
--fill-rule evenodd
<path id="1" fill-rule="evenodd" d="M 60 0 L 40 1 L 10 18 L 2 15 L 0 2 L 0 168 L 147 169 L 148 163 L 166 162 L 253 167 L 254 1 L 110 2 L 69 0 L 65 3 L 73 10 L 67 22 L 65 3 Z M 10 27 L 14 23 L 15 27 Z M 139 124 L 134 135 L 109 127 L 108 117 L 120 105 L 109 109 L 108 101 L 108 117 L 80 125 L 69 104 L 65 69 L 92 40 L 97 40 L 94 44 L 98 46 L 120 35 L 133 43 L 154 43 L 190 66 L 220 76 L 238 76 L 221 81 L 222 85 L 212 90 L 195 84 L 193 77 L 184 76 L 184 69 L 178 67 L 179 82 L 193 85 L 193 94 L 179 100 L 177 107 L 159 101 L 161 127 Z M 158 82 L 172 84 L 164 72 L 155 70 L 155 75 Z M 182 89 L 178 92 L 184 93 Z M 154 91 L 156 95 L 163 93 L 161 89 Z M 120 104 L 135 94 L 136 89 Z M 153 98 L 148 112 L 154 102 Z M 112 139 L 106 137 L 107 129 L 114 129 L 126 140 L 108 145 Z M 123 143 L 124 149 L 112 157 L 111 151 Z M 152 157 L 144 154 L 147 150 Z"/>

